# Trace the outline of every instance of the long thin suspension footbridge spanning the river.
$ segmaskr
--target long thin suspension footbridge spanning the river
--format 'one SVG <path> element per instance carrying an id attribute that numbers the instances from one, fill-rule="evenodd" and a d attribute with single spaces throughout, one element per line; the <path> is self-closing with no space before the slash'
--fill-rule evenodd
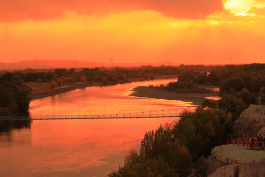
<path id="1" fill-rule="evenodd" d="M 188 109 L 194 107 L 188 107 Z M 134 112 L 122 114 L 104 114 L 104 115 L 30 115 L 28 116 L 1 116 L 0 120 L 42 120 L 42 119 L 95 119 L 95 118 L 175 118 L 180 116 L 180 110 L 186 108 L 176 108 L 168 110 L 157 110 L 148 112 Z"/>

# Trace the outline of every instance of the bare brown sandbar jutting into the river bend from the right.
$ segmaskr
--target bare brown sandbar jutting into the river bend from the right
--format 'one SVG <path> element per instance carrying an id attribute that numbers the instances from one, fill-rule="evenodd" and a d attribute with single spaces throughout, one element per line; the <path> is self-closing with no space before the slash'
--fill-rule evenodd
<path id="1" fill-rule="evenodd" d="M 219 91 L 210 91 L 207 93 L 177 93 L 163 89 L 155 89 L 144 86 L 136 87 L 133 90 L 132 96 L 167 99 L 167 100 L 181 100 L 193 102 L 195 105 L 200 105 L 206 96 L 219 96 Z"/>

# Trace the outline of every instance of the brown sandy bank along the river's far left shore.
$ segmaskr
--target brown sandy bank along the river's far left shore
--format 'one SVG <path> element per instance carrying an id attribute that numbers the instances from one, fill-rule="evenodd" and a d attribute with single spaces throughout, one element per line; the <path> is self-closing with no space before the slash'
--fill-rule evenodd
<path id="1" fill-rule="evenodd" d="M 71 91 L 74 89 L 82 89 L 86 87 L 92 87 L 92 86 L 102 86 L 103 83 L 101 82 L 88 82 L 88 83 L 75 83 L 67 86 L 62 87 L 55 87 L 54 89 L 51 89 L 50 82 L 44 82 L 44 83 L 25 83 L 28 87 L 32 89 L 31 98 L 32 99 L 38 99 L 38 98 L 44 98 L 47 96 L 53 96 L 56 94 L 64 93 L 67 91 Z"/>

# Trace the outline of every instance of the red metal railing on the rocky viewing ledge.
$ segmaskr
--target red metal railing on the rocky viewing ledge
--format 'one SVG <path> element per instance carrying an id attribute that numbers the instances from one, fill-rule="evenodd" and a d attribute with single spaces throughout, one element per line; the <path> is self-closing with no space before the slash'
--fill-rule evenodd
<path id="1" fill-rule="evenodd" d="M 227 144 L 233 144 L 240 145 L 240 146 L 246 146 L 247 149 L 265 149 L 265 141 L 258 141 L 257 138 L 254 138 L 253 141 L 251 141 L 251 138 L 234 138 L 234 139 L 227 139 Z"/>

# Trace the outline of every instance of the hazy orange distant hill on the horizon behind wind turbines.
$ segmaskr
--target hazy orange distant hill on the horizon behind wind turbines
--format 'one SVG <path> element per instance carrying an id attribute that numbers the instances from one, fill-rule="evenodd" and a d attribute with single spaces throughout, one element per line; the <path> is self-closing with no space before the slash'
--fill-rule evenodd
<path id="1" fill-rule="evenodd" d="M 165 65 L 168 66 L 169 62 L 157 62 L 157 63 L 147 63 L 147 62 L 138 62 L 138 63 L 113 63 L 114 66 L 120 66 L 120 67 L 137 67 L 142 65 L 153 65 L 153 66 L 160 66 Z M 180 63 L 174 63 L 170 62 L 170 65 L 172 66 L 178 66 Z M 77 60 L 76 67 L 88 67 L 88 68 L 94 68 L 94 67 L 111 67 L 111 63 L 104 63 L 104 62 L 93 62 L 93 61 L 82 61 Z M 13 63 L 4 63 L 0 62 L 0 70 L 18 70 L 18 69 L 49 69 L 49 68 L 72 68 L 75 67 L 75 63 L 73 60 L 48 60 L 48 59 L 39 59 L 37 61 L 37 66 L 35 63 L 35 60 L 24 60 L 24 61 L 18 61 Z"/>

